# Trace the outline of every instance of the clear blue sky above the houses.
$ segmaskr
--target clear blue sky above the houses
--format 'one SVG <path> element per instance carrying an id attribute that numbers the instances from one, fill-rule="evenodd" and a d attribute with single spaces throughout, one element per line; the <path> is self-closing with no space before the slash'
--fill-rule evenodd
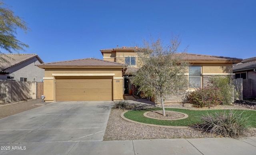
<path id="1" fill-rule="evenodd" d="M 27 54 L 45 62 L 102 59 L 101 49 L 180 35 L 188 53 L 256 56 L 256 0 L 4 0 L 31 29 Z M 136 44 L 135 44 L 136 43 Z"/>

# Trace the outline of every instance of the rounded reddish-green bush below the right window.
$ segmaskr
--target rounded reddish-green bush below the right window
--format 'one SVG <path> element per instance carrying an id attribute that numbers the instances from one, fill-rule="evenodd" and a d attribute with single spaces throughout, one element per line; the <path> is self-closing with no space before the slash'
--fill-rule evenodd
<path id="1" fill-rule="evenodd" d="M 211 107 L 222 103 L 224 97 L 218 88 L 204 87 L 186 95 L 185 102 L 194 107 Z"/>

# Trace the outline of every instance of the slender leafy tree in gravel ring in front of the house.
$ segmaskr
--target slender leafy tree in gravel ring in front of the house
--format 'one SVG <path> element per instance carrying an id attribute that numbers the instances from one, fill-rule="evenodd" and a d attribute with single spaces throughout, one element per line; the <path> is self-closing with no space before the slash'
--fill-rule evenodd
<path id="1" fill-rule="evenodd" d="M 178 53 L 181 42 L 178 36 L 172 37 L 170 45 L 164 46 L 161 39 L 150 42 L 144 40 L 143 48 L 138 48 L 137 66 L 141 68 L 132 72 L 130 81 L 139 86 L 144 97 L 155 97 L 161 100 L 165 116 L 164 100 L 166 95 L 176 93 L 188 87 L 188 67 L 190 64 L 182 60 L 187 48 Z"/>

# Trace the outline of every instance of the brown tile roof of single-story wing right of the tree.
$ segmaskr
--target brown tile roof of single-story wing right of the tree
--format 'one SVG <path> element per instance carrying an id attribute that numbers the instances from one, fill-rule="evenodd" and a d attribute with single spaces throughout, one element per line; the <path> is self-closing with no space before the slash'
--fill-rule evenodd
<path id="1" fill-rule="evenodd" d="M 189 54 L 184 53 L 182 55 L 181 60 L 187 60 L 190 62 L 193 61 L 216 61 L 216 62 L 232 62 L 232 63 L 238 63 L 241 62 L 242 59 L 239 58 L 230 58 L 230 57 L 223 57 L 223 56 L 209 56 L 209 55 L 201 55 L 201 54 Z"/>

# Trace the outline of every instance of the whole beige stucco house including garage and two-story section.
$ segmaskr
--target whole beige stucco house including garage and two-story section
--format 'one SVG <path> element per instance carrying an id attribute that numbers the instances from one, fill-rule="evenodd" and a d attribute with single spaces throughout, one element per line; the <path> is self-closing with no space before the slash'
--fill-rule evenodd
<path id="1" fill-rule="evenodd" d="M 138 69 L 138 47 L 122 47 L 100 50 L 103 60 L 87 58 L 39 65 L 45 69 L 44 95 L 46 102 L 118 100 L 124 94 L 133 95 L 131 76 L 125 66 Z M 238 58 L 185 54 L 184 60 L 192 66 L 188 80 L 196 85 L 188 91 L 204 87 L 213 76 L 233 76 L 232 64 Z M 170 94 L 165 103 L 182 102 L 184 93 Z M 154 100 L 158 103 L 158 100 Z"/>

